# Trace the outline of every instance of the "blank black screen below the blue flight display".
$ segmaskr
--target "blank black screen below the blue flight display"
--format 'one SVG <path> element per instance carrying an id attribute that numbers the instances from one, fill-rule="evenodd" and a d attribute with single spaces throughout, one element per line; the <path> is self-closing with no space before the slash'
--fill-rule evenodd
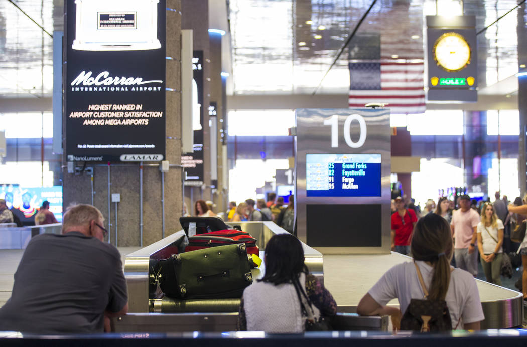
<path id="1" fill-rule="evenodd" d="M 312 247 L 380 247 L 380 204 L 307 205 L 307 244 Z"/>

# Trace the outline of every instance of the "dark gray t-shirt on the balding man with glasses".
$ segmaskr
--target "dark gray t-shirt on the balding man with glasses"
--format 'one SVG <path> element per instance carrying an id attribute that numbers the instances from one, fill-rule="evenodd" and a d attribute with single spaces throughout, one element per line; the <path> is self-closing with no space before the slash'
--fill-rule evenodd
<path id="1" fill-rule="evenodd" d="M 0 331 L 103 332 L 104 311 L 128 302 L 119 251 L 80 232 L 33 237 L 14 277 Z"/>

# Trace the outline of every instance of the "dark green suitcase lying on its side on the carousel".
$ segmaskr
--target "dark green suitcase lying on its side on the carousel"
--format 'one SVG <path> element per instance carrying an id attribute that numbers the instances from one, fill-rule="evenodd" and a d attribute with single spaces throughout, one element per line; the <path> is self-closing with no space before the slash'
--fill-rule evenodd
<path id="1" fill-rule="evenodd" d="M 252 283 L 243 243 L 174 254 L 159 266 L 159 286 L 172 298 L 241 298 Z"/>

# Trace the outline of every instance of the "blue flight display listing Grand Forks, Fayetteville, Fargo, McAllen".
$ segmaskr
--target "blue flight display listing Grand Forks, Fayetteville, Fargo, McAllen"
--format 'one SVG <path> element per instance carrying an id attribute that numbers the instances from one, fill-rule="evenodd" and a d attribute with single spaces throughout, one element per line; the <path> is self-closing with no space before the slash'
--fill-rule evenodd
<path id="1" fill-rule="evenodd" d="M 380 154 L 306 154 L 307 196 L 380 196 Z"/>

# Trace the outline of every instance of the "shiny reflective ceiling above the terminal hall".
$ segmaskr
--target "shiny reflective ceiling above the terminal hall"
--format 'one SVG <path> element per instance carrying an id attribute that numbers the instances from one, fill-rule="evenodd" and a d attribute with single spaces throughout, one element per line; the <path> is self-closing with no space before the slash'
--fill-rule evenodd
<path id="1" fill-rule="evenodd" d="M 47 32 L 62 30 L 63 0 L 14 1 Z M 230 8 L 225 14 L 230 21 L 230 36 L 226 35 L 225 39 L 230 38 L 232 47 L 233 88 L 229 108 L 238 108 L 241 104 L 255 108 L 247 104 L 256 96 L 270 97 L 261 99 L 270 101 L 273 95 L 279 95 L 281 100 L 295 95 L 296 98 L 291 97 L 291 105 L 296 107 L 302 100 L 307 103 L 372 1 L 211 0 L 214 6 L 225 3 Z M 450 6 L 444 1 L 437 0 L 440 12 L 448 11 Z M 463 5 L 465 14 L 476 16 L 476 30 L 481 31 L 516 4 L 515 0 L 465 0 Z M 338 107 L 345 107 L 349 88 L 348 58 L 360 49 L 358 37 L 380 35 L 383 58 L 423 59 L 424 16 L 435 13 L 436 1 L 432 0 L 376 1 L 350 42 L 349 50 L 344 51 L 316 92 L 320 105 L 341 100 L 344 106 Z M 525 25 L 525 19 L 520 17 L 519 21 L 518 9 L 515 9 L 478 35 L 480 95 L 490 95 L 489 100 L 509 96 L 508 100 L 497 100 L 508 103 L 506 108 L 517 107 L 518 81 L 514 74 L 518 72 L 518 25 Z M 53 39 L 31 19 L 11 2 L 0 2 L 3 112 L 24 105 L 51 107 L 52 48 Z M 244 98 L 246 95 L 252 99 Z M 23 100 L 24 105 L 17 100 Z M 270 103 L 255 101 L 255 104 Z M 274 106 L 271 103 L 269 107 Z"/>

